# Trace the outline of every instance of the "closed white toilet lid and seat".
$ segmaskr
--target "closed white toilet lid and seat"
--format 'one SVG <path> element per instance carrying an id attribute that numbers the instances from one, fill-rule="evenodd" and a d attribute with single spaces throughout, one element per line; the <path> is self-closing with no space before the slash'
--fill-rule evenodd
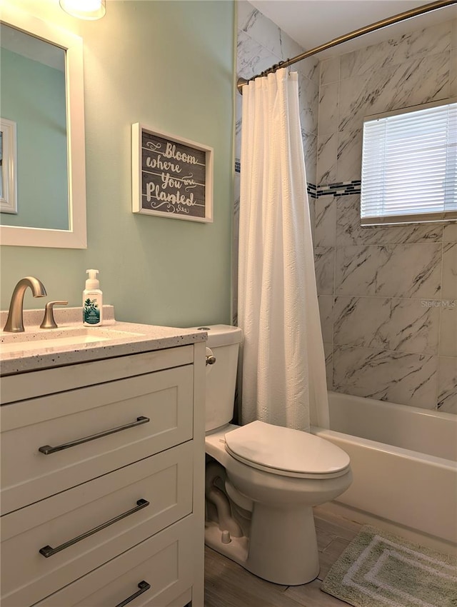
<path id="1" fill-rule="evenodd" d="M 308 432 L 253 421 L 227 432 L 226 450 L 239 461 L 283 476 L 325 478 L 349 469 L 346 451 Z"/>

